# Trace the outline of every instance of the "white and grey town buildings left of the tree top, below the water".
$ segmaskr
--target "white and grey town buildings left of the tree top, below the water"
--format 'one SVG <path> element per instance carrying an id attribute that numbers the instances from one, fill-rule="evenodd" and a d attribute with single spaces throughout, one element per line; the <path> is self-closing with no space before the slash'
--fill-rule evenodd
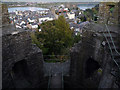
<path id="1" fill-rule="evenodd" d="M 50 10 L 39 11 L 15 11 L 10 12 L 10 22 L 15 24 L 16 28 L 36 29 L 38 25 L 45 21 L 54 20 Z"/>

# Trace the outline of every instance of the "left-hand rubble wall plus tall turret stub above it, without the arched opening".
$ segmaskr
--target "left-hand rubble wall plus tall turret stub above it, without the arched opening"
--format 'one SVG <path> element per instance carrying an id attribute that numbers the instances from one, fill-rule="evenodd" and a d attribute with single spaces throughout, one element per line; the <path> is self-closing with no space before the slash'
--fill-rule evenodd
<path id="1" fill-rule="evenodd" d="M 26 67 L 29 70 L 30 87 L 39 87 L 40 82 L 43 79 L 43 56 L 42 51 L 32 44 L 30 32 L 22 29 L 16 30 L 14 26 L 9 25 L 8 8 L 5 4 L 0 4 L 2 7 L 2 14 L 0 20 L 2 20 L 2 86 L 3 88 L 14 87 L 27 87 L 27 83 L 19 82 L 15 79 L 15 75 L 12 76 L 12 68 L 19 61 L 26 61 Z M 19 67 L 19 68 L 22 68 Z M 26 68 L 24 68 L 26 69 Z M 19 77 L 18 77 L 19 79 Z M 18 83 L 19 82 L 19 83 Z M 17 84 L 18 83 L 18 84 Z M 20 86 L 23 85 L 24 87 Z"/>

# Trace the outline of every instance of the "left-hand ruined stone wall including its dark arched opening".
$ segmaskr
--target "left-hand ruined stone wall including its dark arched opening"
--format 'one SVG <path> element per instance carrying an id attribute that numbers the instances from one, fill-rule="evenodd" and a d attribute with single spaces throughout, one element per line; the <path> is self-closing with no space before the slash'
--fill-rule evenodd
<path id="1" fill-rule="evenodd" d="M 2 28 L 3 88 L 37 87 L 43 79 L 42 51 L 32 44 L 29 31 L 11 29 Z"/>

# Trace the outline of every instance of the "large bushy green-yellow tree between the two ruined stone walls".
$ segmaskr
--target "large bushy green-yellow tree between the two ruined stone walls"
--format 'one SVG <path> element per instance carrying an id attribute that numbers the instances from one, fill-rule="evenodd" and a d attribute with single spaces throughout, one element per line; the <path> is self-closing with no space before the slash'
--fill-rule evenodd
<path id="1" fill-rule="evenodd" d="M 38 46 L 42 49 L 43 54 L 61 54 L 65 48 L 72 46 L 72 31 L 64 16 L 60 16 L 58 20 L 44 22 L 40 25 L 40 28 L 41 32 L 37 31 L 35 36 L 39 41 L 40 45 Z M 34 38 L 33 40 L 36 41 Z"/>

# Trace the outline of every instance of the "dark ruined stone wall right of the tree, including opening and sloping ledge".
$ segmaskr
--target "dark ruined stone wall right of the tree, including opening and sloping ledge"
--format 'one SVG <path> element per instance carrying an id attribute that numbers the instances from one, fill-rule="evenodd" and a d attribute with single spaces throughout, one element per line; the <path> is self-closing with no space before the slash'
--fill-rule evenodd
<path id="1" fill-rule="evenodd" d="M 88 88 L 116 88 L 115 77 L 111 74 L 116 70 L 113 59 L 111 58 L 108 45 L 103 45 L 102 26 L 92 25 L 86 28 L 82 40 L 71 50 L 70 77 L 72 83 L 79 83 Z M 101 30 L 101 31 L 100 31 Z M 93 59 L 91 64 L 91 60 Z M 88 62 L 88 64 L 87 64 Z M 86 77 L 86 66 L 89 68 L 90 75 Z M 92 68 L 96 67 L 93 71 Z"/>

